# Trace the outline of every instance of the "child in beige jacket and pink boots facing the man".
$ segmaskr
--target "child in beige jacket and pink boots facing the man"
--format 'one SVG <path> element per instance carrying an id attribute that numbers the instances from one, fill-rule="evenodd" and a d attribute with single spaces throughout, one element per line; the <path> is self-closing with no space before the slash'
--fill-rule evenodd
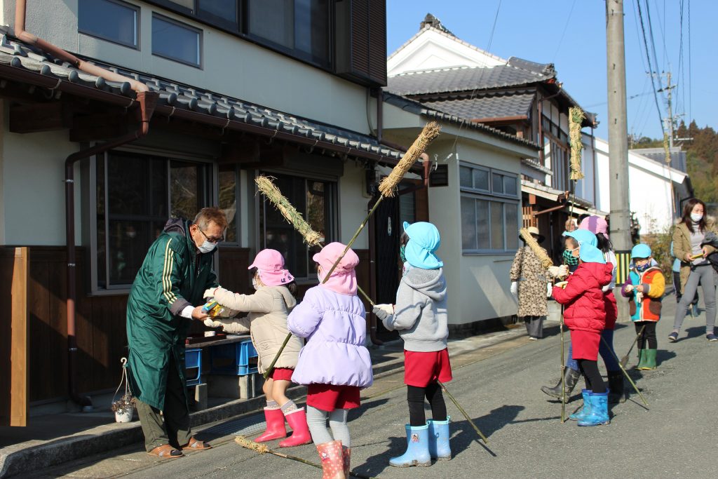
<path id="1" fill-rule="evenodd" d="M 297 285 L 294 276 L 284 269 L 284 257 L 274 249 L 259 251 L 248 269 L 256 269 L 252 277 L 254 294 L 237 294 L 217 288 L 213 292 L 215 301 L 238 312 L 248 312 L 246 317 L 228 320 L 207 320 L 210 327 L 223 326 L 227 332 L 249 332 L 252 344 L 258 354 L 258 371 L 264 373 L 279 352 L 284 338 L 289 335 L 286 317 L 297 305 L 294 294 Z M 279 447 L 292 447 L 312 441 L 307 427 L 304 408 L 298 408 L 286 397 L 286 389 L 297 366 L 302 340 L 292 336 L 277 359 L 269 377 L 264 381 L 262 391 L 266 394 L 266 431 L 255 439 L 264 442 L 286 437 L 284 419 L 292 427 L 292 437 L 279 442 Z"/>

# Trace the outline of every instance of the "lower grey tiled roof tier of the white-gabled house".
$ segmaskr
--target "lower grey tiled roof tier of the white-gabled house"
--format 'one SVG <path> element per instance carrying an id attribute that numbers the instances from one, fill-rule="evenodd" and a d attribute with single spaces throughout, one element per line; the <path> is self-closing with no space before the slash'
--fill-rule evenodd
<path id="1" fill-rule="evenodd" d="M 421 103 L 429 108 L 472 120 L 528 116 L 536 93 L 533 91 L 509 92 L 482 98 L 448 99 Z"/>

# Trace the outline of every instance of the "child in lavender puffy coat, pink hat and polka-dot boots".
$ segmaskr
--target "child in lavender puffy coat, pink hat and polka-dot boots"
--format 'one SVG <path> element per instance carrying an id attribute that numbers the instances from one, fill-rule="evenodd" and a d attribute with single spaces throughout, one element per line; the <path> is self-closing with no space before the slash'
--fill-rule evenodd
<path id="1" fill-rule="evenodd" d="M 292 381 L 307 385 L 307 423 L 327 478 L 349 477 L 347 414 L 359 407 L 360 389 L 373 382 L 364 346 L 366 313 L 357 296 L 355 252 L 348 250 L 323 283 L 344 248 L 342 243 L 330 243 L 314 255 L 320 284 L 307 290 L 286 320 L 289 331 L 307 338 Z"/>

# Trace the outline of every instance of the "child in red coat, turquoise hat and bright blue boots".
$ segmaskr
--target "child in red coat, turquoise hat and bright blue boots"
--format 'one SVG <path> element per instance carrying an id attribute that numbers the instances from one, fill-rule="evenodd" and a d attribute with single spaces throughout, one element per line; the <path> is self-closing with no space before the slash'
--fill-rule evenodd
<path id="1" fill-rule="evenodd" d="M 579 258 L 579 266 L 564 284 L 554 287 L 556 302 L 565 305 L 564 322 L 571 330 L 573 358 L 586 381 L 584 408 L 572 419 L 579 426 L 609 424 L 608 391 L 598 371 L 598 348 L 606 325 L 602 287 L 612 278 L 613 265 L 606 264 L 596 248 L 596 236 L 587 230 L 567 233 L 566 249 Z"/>

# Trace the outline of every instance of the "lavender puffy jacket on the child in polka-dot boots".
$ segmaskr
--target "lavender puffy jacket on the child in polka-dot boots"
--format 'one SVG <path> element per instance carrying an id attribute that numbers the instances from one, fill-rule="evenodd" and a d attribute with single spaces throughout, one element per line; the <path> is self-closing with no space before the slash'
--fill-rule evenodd
<path id="1" fill-rule="evenodd" d="M 371 386 L 371 358 L 364 346 L 365 314 L 356 295 L 339 294 L 321 285 L 307 289 L 304 300 L 286 318 L 289 331 L 307 338 L 292 381 Z"/>

